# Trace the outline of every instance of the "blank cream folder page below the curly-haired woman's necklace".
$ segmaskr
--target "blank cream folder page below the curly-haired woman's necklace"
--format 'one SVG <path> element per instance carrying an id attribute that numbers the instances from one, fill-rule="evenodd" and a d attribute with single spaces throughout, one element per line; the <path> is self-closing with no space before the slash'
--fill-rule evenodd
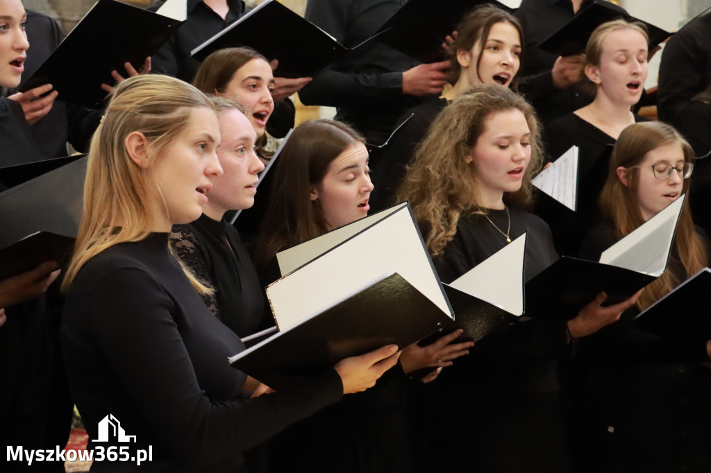
<path id="1" fill-rule="evenodd" d="M 513 315 L 523 315 L 524 233 L 449 286 L 485 300 Z"/>

